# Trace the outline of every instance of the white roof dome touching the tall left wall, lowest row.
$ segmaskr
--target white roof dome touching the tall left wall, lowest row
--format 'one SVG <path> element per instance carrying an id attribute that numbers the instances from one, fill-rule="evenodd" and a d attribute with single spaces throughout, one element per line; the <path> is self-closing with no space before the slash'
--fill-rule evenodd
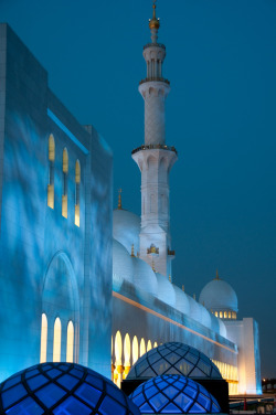
<path id="1" fill-rule="evenodd" d="M 113 285 L 119 289 L 124 280 L 134 283 L 134 264 L 127 249 L 113 240 Z"/>

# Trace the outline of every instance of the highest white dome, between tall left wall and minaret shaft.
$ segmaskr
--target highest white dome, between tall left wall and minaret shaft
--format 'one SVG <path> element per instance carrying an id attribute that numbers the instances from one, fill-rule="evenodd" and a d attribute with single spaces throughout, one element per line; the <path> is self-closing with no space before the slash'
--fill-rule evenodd
<path id="1" fill-rule="evenodd" d="M 131 253 L 134 244 L 135 255 L 139 251 L 140 216 L 124 209 L 113 211 L 113 237 Z"/>

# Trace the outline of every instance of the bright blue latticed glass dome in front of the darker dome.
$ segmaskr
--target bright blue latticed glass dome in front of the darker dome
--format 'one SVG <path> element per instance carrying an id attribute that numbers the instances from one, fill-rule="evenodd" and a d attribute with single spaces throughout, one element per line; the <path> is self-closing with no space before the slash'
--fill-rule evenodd
<path id="1" fill-rule="evenodd" d="M 217 414 L 216 400 L 191 379 L 181 375 L 152 377 L 129 396 L 141 414 Z"/>

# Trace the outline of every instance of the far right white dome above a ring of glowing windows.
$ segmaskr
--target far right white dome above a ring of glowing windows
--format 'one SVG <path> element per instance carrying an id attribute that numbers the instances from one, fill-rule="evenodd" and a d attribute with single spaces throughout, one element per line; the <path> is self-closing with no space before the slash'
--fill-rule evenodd
<path id="1" fill-rule="evenodd" d="M 231 310 L 237 312 L 237 297 L 231 285 L 223 279 L 208 283 L 200 294 L 200 302 L 209 310 Z"/>

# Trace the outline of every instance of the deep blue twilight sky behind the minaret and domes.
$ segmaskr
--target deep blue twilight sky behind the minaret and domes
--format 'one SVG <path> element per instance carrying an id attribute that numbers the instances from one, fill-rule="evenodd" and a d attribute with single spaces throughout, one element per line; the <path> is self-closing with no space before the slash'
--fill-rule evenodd
<path id="1" fill-rule="evenodd" d="M 171 177 L 173 279 L 199 297 L 216 268 L 238 317 L 259 322 L 262 376 L 276 376 L 276 1 L 158 0 Z M 114 201 L 140 213 L 130 152 L 144 141 L 150 0 L 0 0 L 51 88 L 114 150 Z"/>

